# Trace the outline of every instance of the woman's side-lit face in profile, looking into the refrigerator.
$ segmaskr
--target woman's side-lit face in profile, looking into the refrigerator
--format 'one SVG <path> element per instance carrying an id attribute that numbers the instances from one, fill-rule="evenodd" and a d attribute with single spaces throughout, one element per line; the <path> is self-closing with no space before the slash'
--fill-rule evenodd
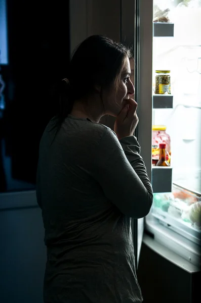
<path id="1" fill-rule="evenodd" d="M 125 60 L 124 69 L 120 75 L 117 90 L 115 85 L 105 94 L 104 107 L 105 114 L 117 117 L 124 105 L 127 103 L 130 95 L 135 93 L 135 88 L 130 79 L 131 67 L 130 61 L 127 57 Z"/>

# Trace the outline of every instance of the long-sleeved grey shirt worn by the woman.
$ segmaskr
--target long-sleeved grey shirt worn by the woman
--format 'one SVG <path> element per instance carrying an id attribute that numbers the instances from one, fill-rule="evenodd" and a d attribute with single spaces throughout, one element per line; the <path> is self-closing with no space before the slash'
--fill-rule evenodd
<path id="1" fill-rule="evenodd" d="M 47 245 L 46 303 L 141 302 L 131 218 L 152 205 L 134 136 L 69 115 L 39 146 L 36 195 Z"/>

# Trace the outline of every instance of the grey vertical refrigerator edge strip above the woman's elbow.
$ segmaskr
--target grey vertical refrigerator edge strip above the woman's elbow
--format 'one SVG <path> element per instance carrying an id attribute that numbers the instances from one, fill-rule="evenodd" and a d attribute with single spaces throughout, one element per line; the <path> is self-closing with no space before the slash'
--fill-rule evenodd
<path id="1" fill-rule="evenodd" d="M 147 12 L 149 12 L 147 14 Z M 141 156 L 151 180 L 153 0 L 140 1 L 139 128 Z M 146 134 L 146 137 L 145 137 Z"/>

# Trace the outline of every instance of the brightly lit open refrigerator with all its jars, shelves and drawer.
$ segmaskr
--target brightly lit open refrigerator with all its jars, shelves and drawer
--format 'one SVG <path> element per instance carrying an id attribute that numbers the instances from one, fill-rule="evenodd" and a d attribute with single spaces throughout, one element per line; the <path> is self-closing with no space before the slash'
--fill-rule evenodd
<path id="1" fill-rule="evenodd" d="M 145 228 L 200 266 L 201 1 L 153 1 L 152 186 Z M 158 166 L 165 143 L 168 166 Z"/>

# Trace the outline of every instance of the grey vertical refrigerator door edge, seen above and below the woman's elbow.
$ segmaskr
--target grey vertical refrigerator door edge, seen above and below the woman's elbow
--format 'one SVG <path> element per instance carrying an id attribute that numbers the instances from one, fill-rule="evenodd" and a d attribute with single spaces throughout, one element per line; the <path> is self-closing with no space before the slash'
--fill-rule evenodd
<path id="1" fill-rule="evenodd" d="M 151 125 L 152 125 L 152 20 L 153 1 L 136 0 L 136 87 L 138 102 L 138 141 L 147 174 L 151 180 Z M 149 12 L 147 14 L 147 12 Z M 146 134 L 146 137 L 144 136 Z M 137 224 L 137 267 L 144 233 L 145 219 Z"/>

